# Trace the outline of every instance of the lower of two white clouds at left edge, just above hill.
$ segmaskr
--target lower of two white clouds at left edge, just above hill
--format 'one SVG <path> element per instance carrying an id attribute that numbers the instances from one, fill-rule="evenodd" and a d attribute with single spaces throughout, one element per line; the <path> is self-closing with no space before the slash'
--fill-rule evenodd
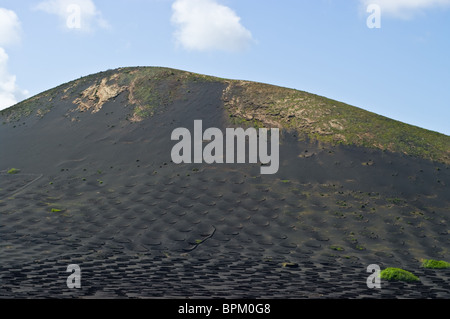
<path id="1" fill-rule="evenodd" d="M 0 48 L 0 110 L 16 104 L 28 96 L 28 91 L 16 85 L 16 76 L 8 72 L 8 55 Z"/>

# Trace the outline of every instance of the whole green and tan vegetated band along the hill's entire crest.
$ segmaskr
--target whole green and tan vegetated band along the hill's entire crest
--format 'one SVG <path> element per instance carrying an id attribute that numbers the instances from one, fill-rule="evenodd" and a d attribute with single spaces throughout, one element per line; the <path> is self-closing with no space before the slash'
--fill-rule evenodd
<path id="1" fill-rule="evenodd" d="M 125 94 L 126 120 L 140 122 L 163 112 L 176 100 L 188 99 L 190 88 L 204 83 L 220 86 L 223 112 L 231 124 L 295 130 L 299 139 L 377 148 L 450 163 L 450 138 L 446 135 L 303 91 L 167 68 L 121 68 L 83 77 L 0 114 L 3 124 L 20 124 L 24 117 L 43 118 L 55 105 L 67 101 L 73 108 L 66 115 L 77 121 L 78 113 L 97 113 L 106 102 Z"/>

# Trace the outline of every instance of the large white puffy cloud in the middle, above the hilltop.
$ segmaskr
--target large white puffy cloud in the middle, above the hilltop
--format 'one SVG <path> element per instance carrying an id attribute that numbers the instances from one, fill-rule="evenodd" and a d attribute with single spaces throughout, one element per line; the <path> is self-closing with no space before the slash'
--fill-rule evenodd
<path id="1" fill-rule="evenodd" d="M 216 0 L 176 0 L 172 23 L 177 44 L 195 51 L 241 51 L 253 42 L 241 18 Z"/>

